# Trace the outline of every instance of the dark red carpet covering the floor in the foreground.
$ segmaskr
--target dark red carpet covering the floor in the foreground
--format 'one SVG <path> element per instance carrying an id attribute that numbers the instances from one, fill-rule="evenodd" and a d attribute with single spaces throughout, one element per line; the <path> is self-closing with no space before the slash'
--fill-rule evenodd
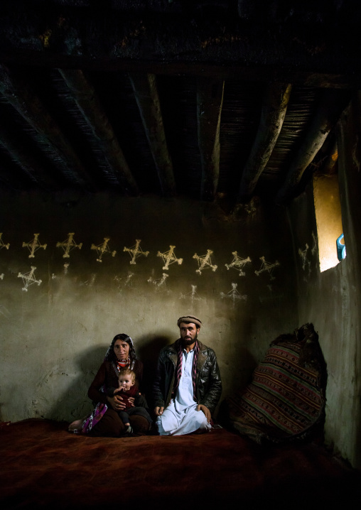
<path id="1" fill-rule="evenodd" d="M 0 438 L 1 509 L 330 509 L 361 501 L 360 472 L 312 443 L 261 447 L 225 429 L 90 438 L 35 419 L 1 426 Z"/>

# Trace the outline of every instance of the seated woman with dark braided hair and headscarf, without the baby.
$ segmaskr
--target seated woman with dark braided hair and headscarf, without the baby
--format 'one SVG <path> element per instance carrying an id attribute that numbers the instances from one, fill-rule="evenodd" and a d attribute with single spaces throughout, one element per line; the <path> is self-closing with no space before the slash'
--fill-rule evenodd
<path id="1" fill-rule="evenodd" d="M 115 438 L 125 433 L 124 424 L 119 418 L 119 411 L 126 407 L 123 398 L 120 394 L 107 396 L 107 388 L 118 386 L 119 370 L 124 368 L 134 371 L 136 385 L 139 386 L 143 377 L 143 363 L 136 359 L 131 337 L 120 333 L 109 345 L 104 362 L 87 392 L 96 404 L 94 411 L 83 420 L 73 421 L 68 429 L 70 432 Z M 129 420 L 134 433 L 145 434 L 149 430 L 149 422 L 144 416 L 130 416 Z"/>

